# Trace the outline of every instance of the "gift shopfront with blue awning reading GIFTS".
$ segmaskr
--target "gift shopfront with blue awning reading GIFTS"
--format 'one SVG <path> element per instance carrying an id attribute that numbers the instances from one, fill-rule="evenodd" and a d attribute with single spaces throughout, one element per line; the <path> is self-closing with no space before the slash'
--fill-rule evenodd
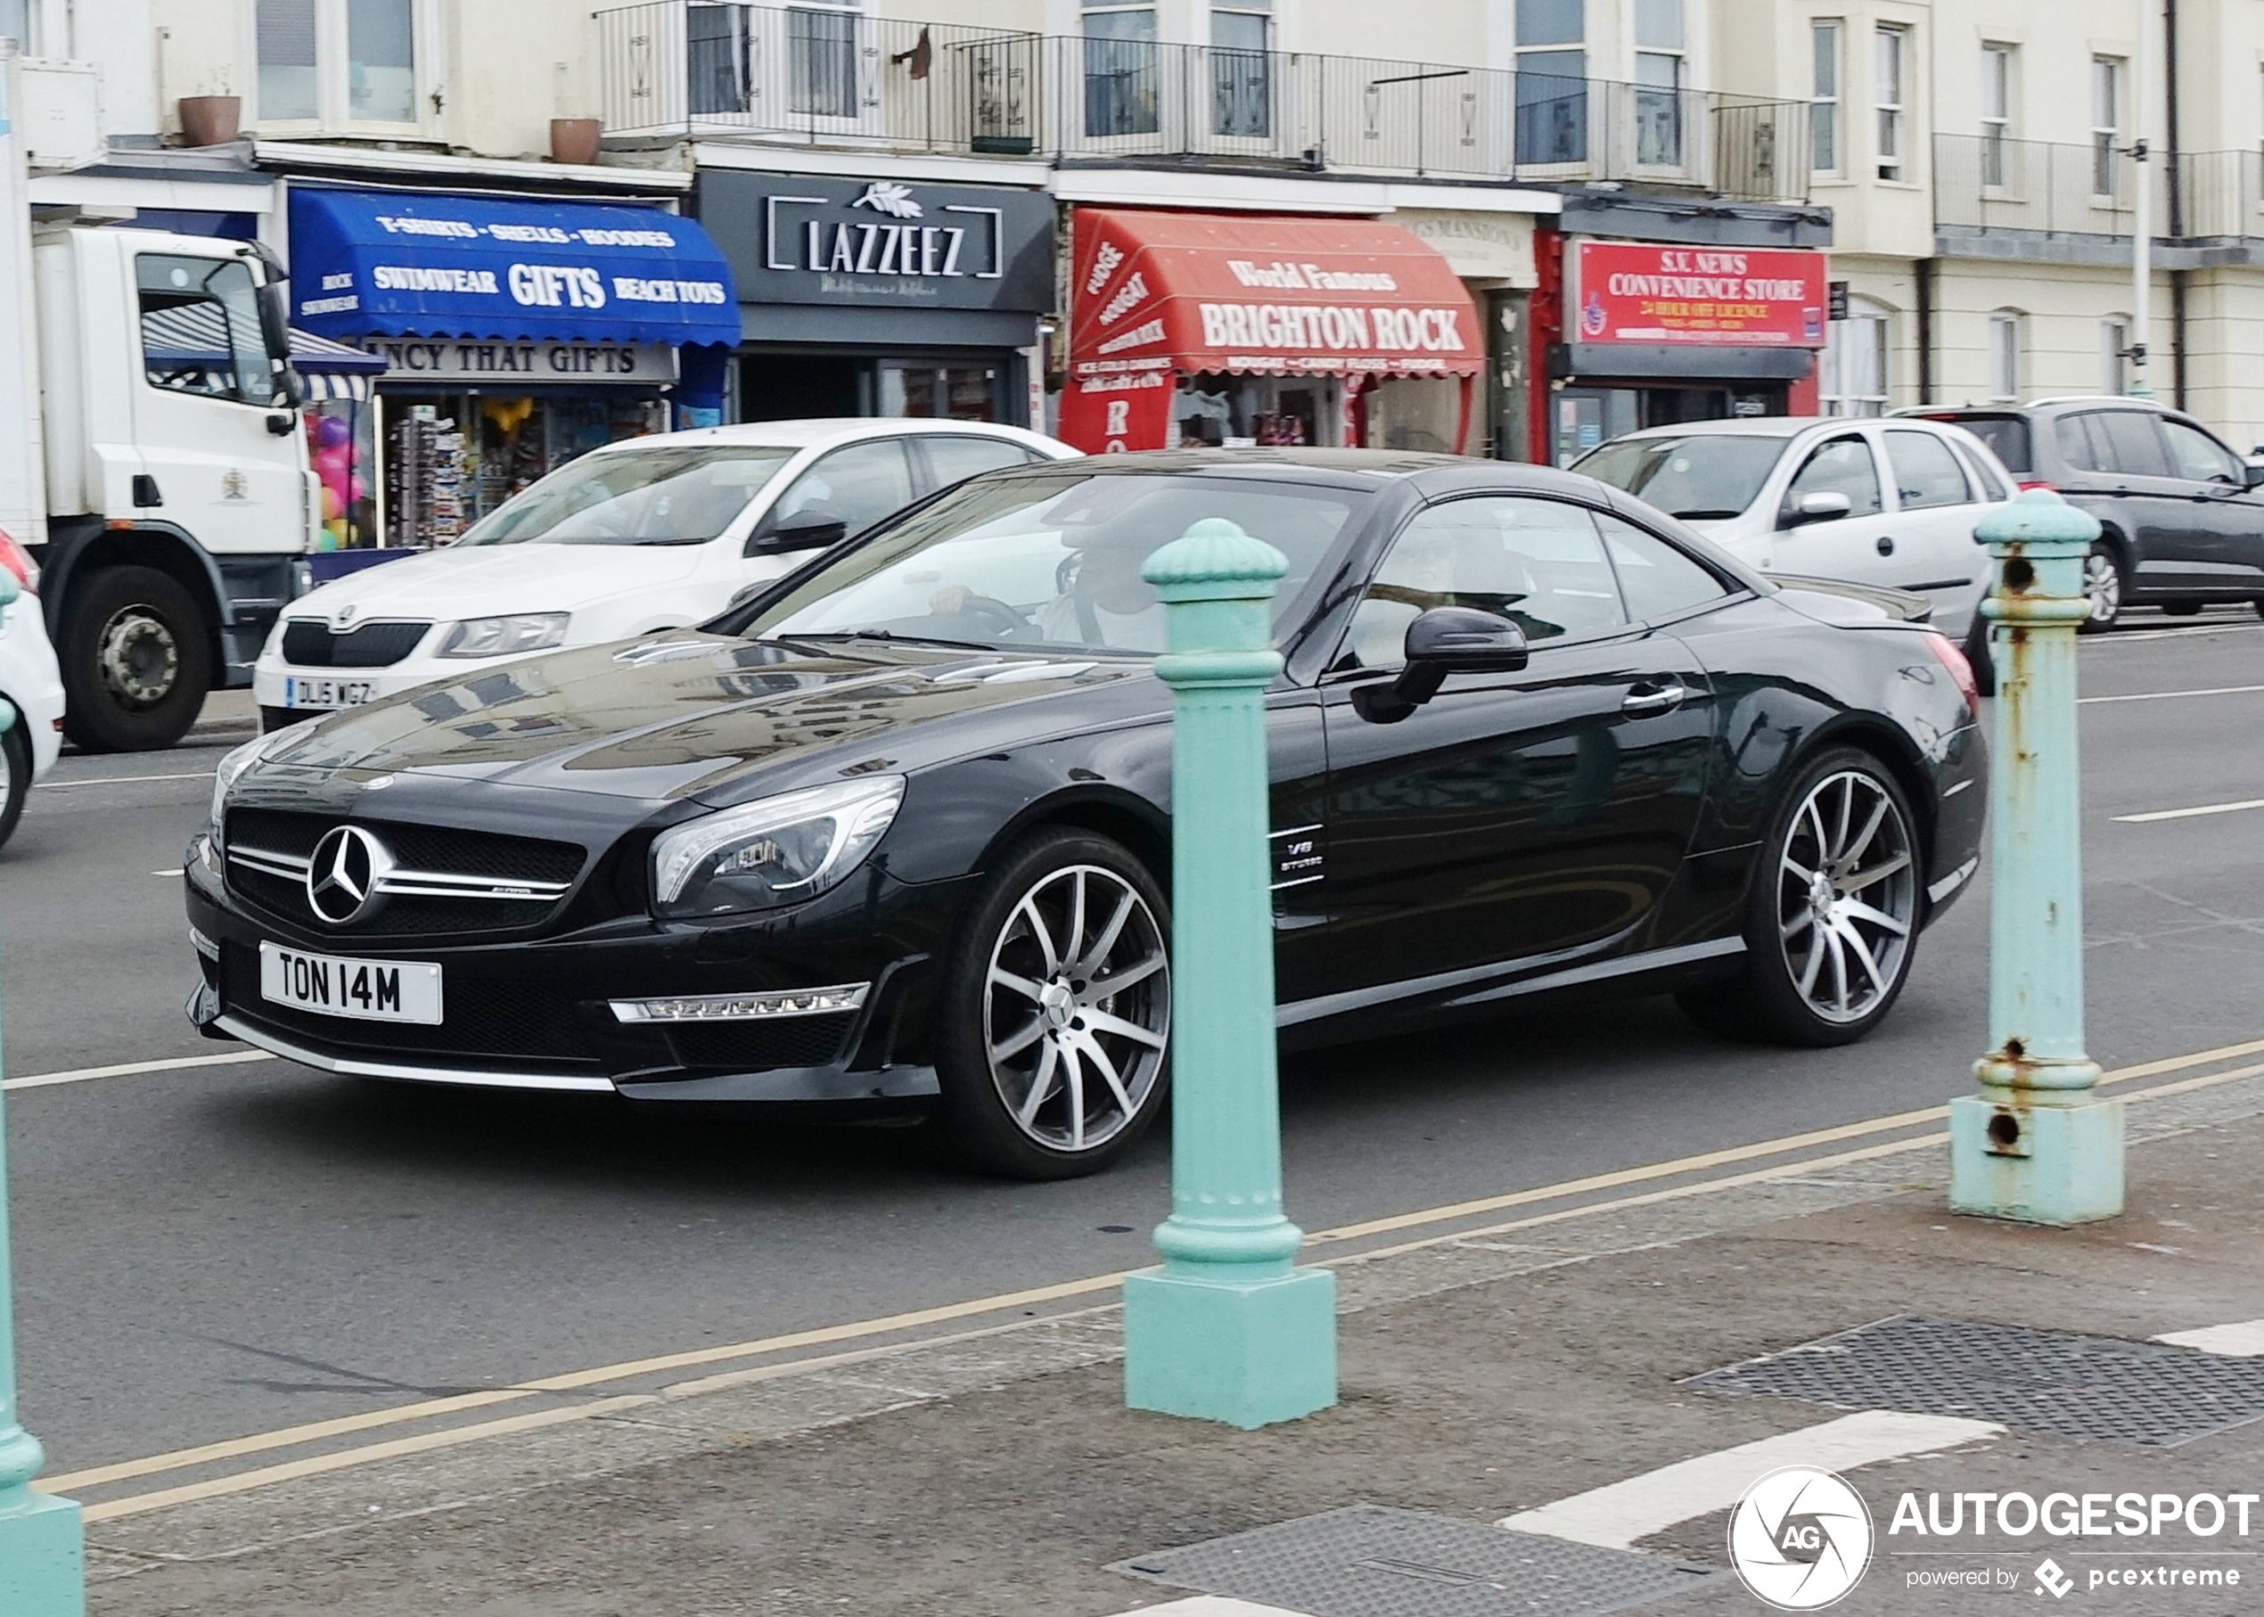
<path id="1" fill-rule="evenodd" d="M 346 544 L 446 544 L 589 448 L 720 419 L 738 310 L 691 220 L 297 186 L 290 222 L 294 322 L 385 360 L 315 426 Z"/>

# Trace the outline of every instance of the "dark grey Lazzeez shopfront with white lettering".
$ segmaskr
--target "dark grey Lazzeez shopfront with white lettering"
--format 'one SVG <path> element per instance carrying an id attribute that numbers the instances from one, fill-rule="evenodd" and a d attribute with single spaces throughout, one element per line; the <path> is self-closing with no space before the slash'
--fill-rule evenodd
<path id="1" fill-rule="evenodd" d="M 1053 199 L 1012 186 L 700 172 L 738 283 L 731 410 L 1039 426 Z"/>

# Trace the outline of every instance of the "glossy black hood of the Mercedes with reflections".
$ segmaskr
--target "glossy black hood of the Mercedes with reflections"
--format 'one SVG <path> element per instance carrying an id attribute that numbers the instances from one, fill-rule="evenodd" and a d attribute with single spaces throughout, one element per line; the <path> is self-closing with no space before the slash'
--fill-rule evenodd
<path id="1" fill-rule="evenodd" d="M 1146 661 L 967 652 L 858 643 L 838 654 L 736 636 L 668 632 L 552 652 L 428 684 L 315 720 L 256 772 L 272 777 L 396 775 L 482 779 L 648 802 L 731 797 L 752 772 L 779 777 L 801 759 L 826 775 L 874 765 L 912 770 L 996 729 L 967 725 L 1012 702 L 1139 686 L 1168 711 Z M 1123 702 L 1109 704 L 1112 718 Z M 1078 725 L 1082 716 L 1062 716 Z M 1017 727 L 1017 738 L 1032 732 Z M 783 777 L 781 777 L 783 779 Z"/>

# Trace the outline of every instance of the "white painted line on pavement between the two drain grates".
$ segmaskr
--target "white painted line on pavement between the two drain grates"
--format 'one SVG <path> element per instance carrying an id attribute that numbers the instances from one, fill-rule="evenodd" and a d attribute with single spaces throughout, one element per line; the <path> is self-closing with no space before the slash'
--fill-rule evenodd
<path id="1" fill-rule="evenodd" d="M 1698 1454 L 1628 1481 L 1589 1488 L 1537 1511 L 1519 1511 L 1503 1517 L 1499 1526 L 1512 1533 L 1569 1538 L 1576 1545 L 1628 1549 L 1635 1540 L 1664 1533 L 1675 1522 L 1727 1511 L 1759 1477 L 1780 1465 L 1820 1465 L 1827 1472 L 1847 1472 L 1856 1465 L 1954 1449 L 1961 1443 L 1997 1436 L 2004 1436 L 2004 1427 L 1990 1420 L 1866 1409 L 1820 1427 L 1784 1431 L 1759 1443 L 1739 1443 L 1734 1449 Z"/>

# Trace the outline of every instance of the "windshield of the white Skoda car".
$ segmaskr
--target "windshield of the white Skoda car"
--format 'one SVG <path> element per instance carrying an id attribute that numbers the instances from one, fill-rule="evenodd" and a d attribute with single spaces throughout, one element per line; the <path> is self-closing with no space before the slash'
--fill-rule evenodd
<path id="1" fill-rule="evenodd" d="M 582 455 L 480 519 L 457 544 L 706 544 L 795 457 L 700 444 Z"/>

